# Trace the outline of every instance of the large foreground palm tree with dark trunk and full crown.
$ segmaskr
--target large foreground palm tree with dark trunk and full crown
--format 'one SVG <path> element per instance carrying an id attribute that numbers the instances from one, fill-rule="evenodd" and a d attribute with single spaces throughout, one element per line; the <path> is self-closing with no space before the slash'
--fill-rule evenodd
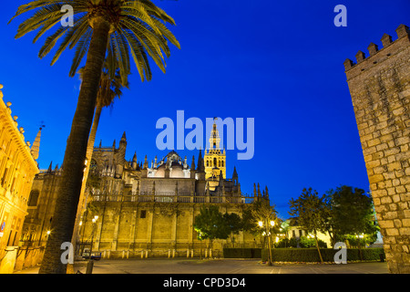
<path id="1" fill-rule="evenodd" d="M 175 25 L 174 20 L 149 0 L 36 0 L 17 9 L 15 16 L 27 12 L 33 14 L 20 24 L 16 38 L 38 30 L 34 41 L 51 28 L 58 26 L 63 5 L 71 5 L 74 26 L 59 26 L 46 38 L 39 57 L 45 57 L 63 37 L 52 65 L 67 47 L 74 48 L 75 56 L 69 72 L 75 76 L 77 68 L 87 54 L 83 82 L 78 96 L 77 110 L 63 161 L 64 170 L 56 202 L 56 220 L 53 220 L 42 265 L 39 273 L 67 273 L 67 265 L 60 259 L 61 245 L 70 242 L 77 214 L 77 205 L 87 155 L 87 141 L 97 103 L 97 92 L 107 59 L 109 74 L 115 68 L 121 71 L 126 81 L 132 56 L 141 80 L 150 79 L 148 56 L 165 72 L 165 57 L 169 57 L 168 41 L 179 47 L 166 24 Z M 163 52 L 163 53 L 162 53 Z M 123 82 L 125 83 L 125 82 Z"/>

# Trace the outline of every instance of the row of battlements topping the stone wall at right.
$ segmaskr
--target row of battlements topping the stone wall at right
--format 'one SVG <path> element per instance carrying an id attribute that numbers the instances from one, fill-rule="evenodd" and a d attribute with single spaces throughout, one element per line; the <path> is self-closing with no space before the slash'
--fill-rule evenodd
<path id="1" fill-rule="evenodd" d="M 395 29 L 395 32 L 397 34 L 397 39 L 395 41 L 393 41 L 392 36 L 387 34 L 383 35 L 381 39 L 383 47 L 380 49 L 376 44 L 370 43 L 369 47 L 367 47 L 369 57 L 366 57 L 364 52 L 359 50 L 355 56 L 357 63 L 354 63 L 351 59 L 346 58 L 343 62 L 346 74 L 347 71 L 354 68 L 358 68 L 359 72 L 364 71 L 365 69 L 372 67 L 374 64 L 380 63 L 387 57 L 390 57 L 392 55 L 392 51 L 389 49 L 390 47 L 396 47 L 395 44 L 397 44 L 397 46 L 401 46 L 401 44 L 398 43 L 402 43 L 402 41 L 406 43 L 410 42 L 410 30 L 408 26 L 400 25 Z M 396 50 L 396 48 L 394 48 L 394 50 Z"/>

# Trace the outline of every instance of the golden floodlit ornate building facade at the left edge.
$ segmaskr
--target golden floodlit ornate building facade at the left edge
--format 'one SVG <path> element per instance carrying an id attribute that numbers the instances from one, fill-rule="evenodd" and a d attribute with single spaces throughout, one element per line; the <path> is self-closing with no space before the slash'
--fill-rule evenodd
<path id="1" fill-rule="evenodd" d="M 20 253 L 19 239 L 27 214 L 33 179 L 38 172 L 41 130 L 30 149 L 17 116 L 11 116 L 11 102 L 3 101 L 0 85 L 0 274 L 12 273 Z"/>

